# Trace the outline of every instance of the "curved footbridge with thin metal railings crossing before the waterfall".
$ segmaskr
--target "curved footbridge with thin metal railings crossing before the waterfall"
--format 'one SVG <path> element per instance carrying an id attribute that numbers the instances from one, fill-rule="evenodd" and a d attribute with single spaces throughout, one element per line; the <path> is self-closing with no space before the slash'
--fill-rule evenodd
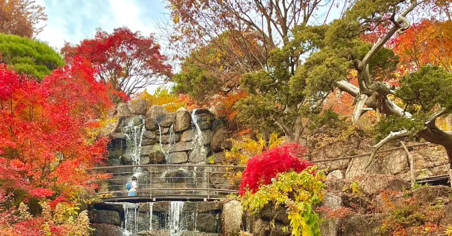
<path id="1" fill-rule="evenodd" d="M 94 167 L 89 171 L 103 201 L 214 200 L 237 194 L 245 167 L 208 164 L 147 164 Z M 136 196 L 126 184 L 138 178 Z"/>

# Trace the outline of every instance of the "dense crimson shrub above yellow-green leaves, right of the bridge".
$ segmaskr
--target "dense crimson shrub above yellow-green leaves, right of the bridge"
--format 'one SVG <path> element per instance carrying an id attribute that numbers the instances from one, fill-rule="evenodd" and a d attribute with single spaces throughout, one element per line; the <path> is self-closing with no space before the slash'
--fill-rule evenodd
<path id="1" fill-rule="evenodd" d="M 255 155 L 248 160 L 247 168 L 242 174 L 239 194 L 247 190 L 256 192 L 262 184 L 270 184 L 278 173 L 293 170 L 301 172 L 312 163 L 301 159 L 307 152 L 306 147 L 297 143 L 287 143 Z"/>

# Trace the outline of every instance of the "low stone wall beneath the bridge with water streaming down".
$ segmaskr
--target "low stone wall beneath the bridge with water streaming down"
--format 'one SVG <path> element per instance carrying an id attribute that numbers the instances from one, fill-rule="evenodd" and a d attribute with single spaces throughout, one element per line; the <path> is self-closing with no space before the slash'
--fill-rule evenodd
<path id="1" fill-rule="evenodd" d="M 242 206 L 237 201 L 179 202 L 180 218 L 175 222 L 174 202 L 105 203 L 90 206 L 89 218 L 94 236 L 170 235 L 170 228 L 180 235 L 237 235 L 242 227 Z"/>

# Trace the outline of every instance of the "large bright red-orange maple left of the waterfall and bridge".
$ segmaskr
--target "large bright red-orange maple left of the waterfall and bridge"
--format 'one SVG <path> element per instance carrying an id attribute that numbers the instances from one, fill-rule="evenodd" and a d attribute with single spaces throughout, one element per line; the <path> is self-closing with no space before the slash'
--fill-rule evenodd
<path id="1" fill-rule="evenodd" d="M 69 199 L 95 187 L 84 169 L 104 158 L 107 139 L 87 137 L 112 106 L 109 90 L 80 58 L 41 83 L 0 65 L 0 190 Z"/>

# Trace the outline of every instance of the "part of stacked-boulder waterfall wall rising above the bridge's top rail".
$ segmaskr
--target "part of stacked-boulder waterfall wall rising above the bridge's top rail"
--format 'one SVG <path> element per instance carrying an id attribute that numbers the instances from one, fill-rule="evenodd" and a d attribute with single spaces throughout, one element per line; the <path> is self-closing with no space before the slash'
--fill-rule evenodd
<path id="1" fill-rule="evenodd" d="M 140 104 L 140 105 L 137 105 Z M 179 109 L 166 112 L 163 107 L 153 105 L 146 109 L 145 101 L 134 106 L 119 104 L 117 122 L 110 127 L 112 142 L 108 148 L 108 165 L 132 164 L 129 156 L 124 155 L 126 135 L 124 128 L 132 123 L 143 125 L 139 117 L 144 118 L 144 128 L 140 164 L 183 164 L 183 163 L 223 163 L 224 150 L 231 148 L 230 132 L 225 122 L 216 119 L 208 109 L 196 109 L 189 112 Z M 195 122 L 194 122 L 195 121 Z M 114 129 L 113 129 L 114 128 Z M 198 143 L 196 143 L 198 142 Z M 203 150 L 193 150 L 198 144 Z M 197 153 L 193 153 L 197 151 Z M 209 156 L 214 156 L 210 161 Z"/>

